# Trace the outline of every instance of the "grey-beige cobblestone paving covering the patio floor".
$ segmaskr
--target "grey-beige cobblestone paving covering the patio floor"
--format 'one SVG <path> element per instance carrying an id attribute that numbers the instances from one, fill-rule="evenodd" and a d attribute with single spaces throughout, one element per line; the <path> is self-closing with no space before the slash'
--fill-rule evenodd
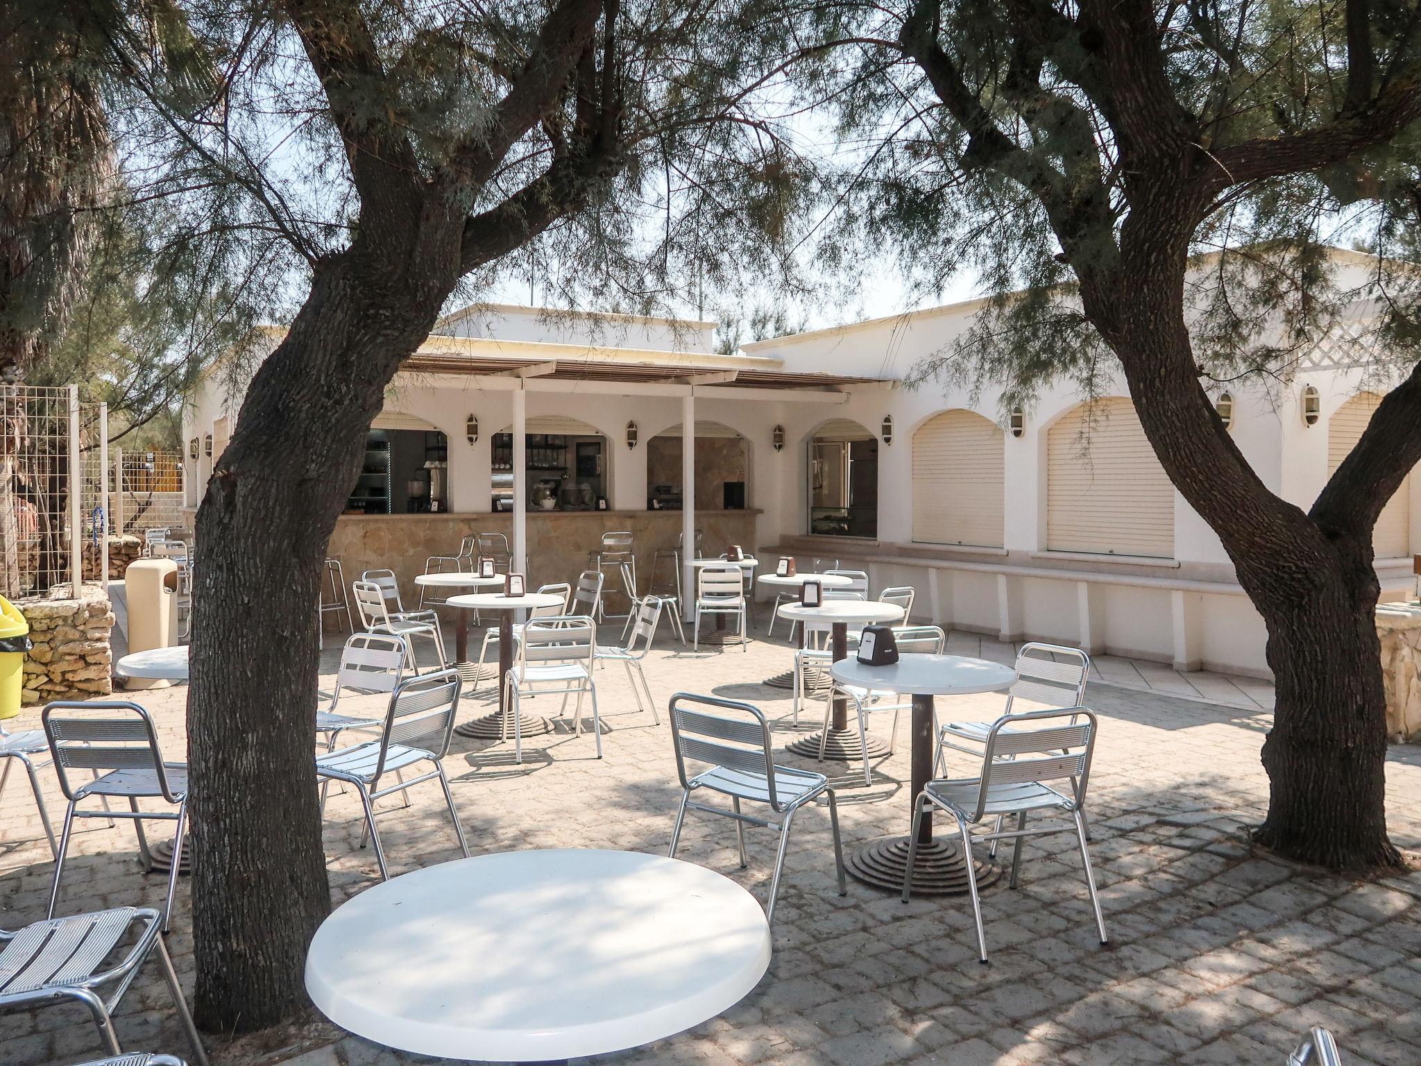
<path id="1" fill-rule="evenodd" d="M 328 650 L 327 669 L 334 657 Z M 675 689 L 749 699 L 787 741 L 787 694 L 759 684 L 787 662 L 779 641 L 701 654 L 662 641 L 647 672 L 662 706 Z M 534 738 L 522 766 L 512 760 L 512 745 L 455 739 L 446 769 L 476 853 L 568 846 L 664 853 L 678 797 L 669 731 L 635 711 L 621 671 L 600 671 L 597 681 L 608 728 L 601 762 L 585 735 Z M 260 688 L 253 678 L 252 692 Z M 185 688 L 135 696 L 158 716 L 169 758 L 183 750 L 185 696 Z M 487 684 L 460 716 L 483 714 L 486 696 Z M 992 965 L 980 967 L 965 900 L 904 905 L 854 881 L 838 897 L 827 814 L 806 812 L 790 846 L 774 959 L 759 988 L 689 1032 L 595 1062 L 1282 1063 L 1289 1045 L 1316 1023 L 1333 1029 L 1349 1063 L 1421 1062 L 1421 874 L 1358 881 L 1249 849 L 1245 827 L 1266 804 L 1258 759 L 1266 712 L 1106 684 L 1093 684 L 1087 702 L 1101 715 L 1087 809 L 1110 948 L 1097 942 L 1070 836 L 1027 844 L 1020 888 L 1010 891 L 1003 880 L 985 894 Z M 999 696 L 944 699 L 939 712 L 990 718 L 999 705 Z M 256 701 L 253 715 L 260 714 Z M 9 725 L 26 728 L 37 718 L 26 711 Z M 887 729 L 888 716 L 875 723 Z M 845 850 L 905 831 L 907 723 L 902 741 L 878 765 L 871 787 L 845 776 Z M 803 765 L 793 755 L 780 760 Z M 43 780 L 58 820 L 53 770 Z M 1394 748 L 1387 783 L 1393 837 L 1415 850 L 1421 749 Z M 458 856 L 438 786 L 419 786 L 414 800 L 381 819 L 396 874 Z M 0 927 L 13 930 L 44 917 L 53 863 L 23 775 L 11 775 L 0 803 Z M 334 799 L 325 853 L 335 903 L 375 884 L 374 857 L 357 847 L 360 829 L 358 803 Z M 763 831 L 749 836 L 749 870 L 737 867 L 733 829 L 720 820 L 691 822 L 681 857 L 763 898 L 773 841 Z M 63 908 L 155 904 L 162 888 L 162 878 L 138 870 L 126 827 L 95 822 L 75 836 Z M 171 945 L 190 982 L 189 930 L 183 883 Z M 152 972 L 129 992 L 117 1026 L 125 1049 L 185 1052 L 166 989 Z M 220 1042 L 213 1050 L 216 1063 L 232 1060 Z M 77 1063 L 98 1052 L 92 1026 L 74 1008 L 0 1016 L 4 1066 Z M 345 1038 L 267 1060 L 395 1066 L 416 1059 Z"/>

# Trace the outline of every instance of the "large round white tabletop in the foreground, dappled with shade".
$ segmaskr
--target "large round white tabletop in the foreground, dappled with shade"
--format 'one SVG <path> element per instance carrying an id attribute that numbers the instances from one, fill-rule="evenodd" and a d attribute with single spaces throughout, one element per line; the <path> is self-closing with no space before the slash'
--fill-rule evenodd
<path id="1" fill-rule="evenodd" d="M 426 867 L 338 907 L 306 989 L 368 1040 L 537 1062 L 635 1048 L 737 1003 L 770 962 L 745 888 L 632 851 L 503 851 Z"/>

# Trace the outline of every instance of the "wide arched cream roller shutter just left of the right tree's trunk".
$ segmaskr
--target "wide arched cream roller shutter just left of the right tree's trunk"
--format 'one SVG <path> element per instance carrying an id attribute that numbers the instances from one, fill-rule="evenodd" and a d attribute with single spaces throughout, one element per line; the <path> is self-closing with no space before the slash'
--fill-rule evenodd
<path id="1" fill-rule="evenodd" d="M 1081 404 L 1046 434 L 1046 547 L 1174 556 L 1174 486 L 1124 397 Z"/>

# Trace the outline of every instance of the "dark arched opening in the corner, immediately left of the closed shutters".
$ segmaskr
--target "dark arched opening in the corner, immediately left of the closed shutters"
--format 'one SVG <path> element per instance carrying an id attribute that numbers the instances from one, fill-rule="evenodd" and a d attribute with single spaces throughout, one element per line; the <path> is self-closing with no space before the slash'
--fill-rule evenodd
<path id="1" fill-rule="evenodd" d="M 878 438 L 848 418 L 826 422 L 810 438 L 809 532 L 878 536 Z"/>

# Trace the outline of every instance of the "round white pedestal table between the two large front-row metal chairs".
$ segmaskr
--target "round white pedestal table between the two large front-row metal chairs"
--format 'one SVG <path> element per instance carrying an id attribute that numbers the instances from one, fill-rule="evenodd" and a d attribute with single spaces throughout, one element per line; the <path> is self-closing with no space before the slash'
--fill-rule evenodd
<path id="1" fill-rule="evenodd" d="M 887 667 L 870 667 L 845 658 L 830 667 L 834 681 L 880 692 L 912 696 L 912 789 L 908 793 L 908 827 L 912 831 L 912 804 L 932 779 L 934 696 L 959 696 L 973 692 L 1000 692 L 1016 681 L 1016 671 L 1000 662 L 965 655 L 904 654 Z M 968 863 L 961 849 L 946 840 L 932 839 L 932 812 L 924 810 L 918 826 L 918 860 L 912 870 L 912 890 L 928 894 L 968 891 Z M 860 881 L 891 891 L 902 890 L 908 868 L 908 837 L 881 837 L 855 851 L 845 863 Z M 978 863 L 978 885 L 1000 877 L 996 866 Z"/>

